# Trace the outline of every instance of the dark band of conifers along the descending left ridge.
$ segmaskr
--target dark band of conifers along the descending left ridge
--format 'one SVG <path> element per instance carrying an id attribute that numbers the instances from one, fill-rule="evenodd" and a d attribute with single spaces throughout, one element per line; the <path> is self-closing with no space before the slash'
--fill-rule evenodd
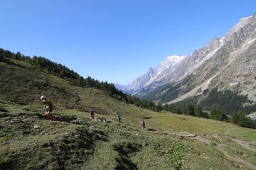
<path id="1" fill-rule="evenodd" d="M 56 62 L 52 62 L 46 59 L 45 57 L 29 57 L 22 55 L 21 52 L 14 53 L 9 50 L 4 50 L 0 48 L 0 61 L 9 62 L 9 60 L 19 60 L 27 62 L 45 70 L 50 74 L 68 80 L 70 84 L 73 84 L 74 86 L 92 87 L 94 89 L 100 89 L 104 91 L 105 94 L 110 95 L 119 101 L 134 104 L 135 106 L 138 106 L 140 108 L 146 108 L 151 111 L 161 111 L 159 105 L 157 106 L 154 102 L 144 99 L 142 100 L 137 98 L 136 96 L 132 96 L 129 94 L 124 94 L 122 91 L 117 90 L 114 84 L 108 83 L 107 81 L 98 81 L 96 79 L 92 79 L 92 77 L 81 77 L 78 73 L 68 69 L 68 67 L 65 67 L 63 64 L 57 64 Z"/>

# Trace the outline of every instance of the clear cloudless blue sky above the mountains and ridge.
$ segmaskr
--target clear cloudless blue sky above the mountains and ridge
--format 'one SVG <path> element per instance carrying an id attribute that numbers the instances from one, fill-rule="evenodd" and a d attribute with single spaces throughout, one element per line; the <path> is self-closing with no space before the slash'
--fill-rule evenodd
<path id="1" fill-rule="evenodd" d="M 0 47 L 126 84 L 188 55 L 256 11 L 256 1 L 2 0 Z"/>

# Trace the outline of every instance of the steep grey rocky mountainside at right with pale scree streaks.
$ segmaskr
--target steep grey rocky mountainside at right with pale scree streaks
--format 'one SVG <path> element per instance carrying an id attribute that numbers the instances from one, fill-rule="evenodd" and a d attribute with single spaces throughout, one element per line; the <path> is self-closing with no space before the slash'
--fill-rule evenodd
<path id="1" fill-rule="evenodd" d="M 256 111 L 255 40 L 256 14 L 242 18 L 223 38 L 214 38 L 155 82 L 164 86 L 146 86 L 143 98 L 164 103 L 193 101 L 206 109 L 218 103 L 227 113 Z"/>

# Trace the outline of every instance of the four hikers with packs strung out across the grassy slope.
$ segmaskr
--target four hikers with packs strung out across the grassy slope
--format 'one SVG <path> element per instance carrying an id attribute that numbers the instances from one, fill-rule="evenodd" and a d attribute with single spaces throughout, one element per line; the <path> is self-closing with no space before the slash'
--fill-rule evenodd
<path id="1" fill-rule="evenodd" d="M 48 98 L 46 98 L 46 96 L 41 96 L 40 99 L 43 102 L 43 111 L 46 111 L 46 117 L 50 120 L 56 121 L 57 118 L 52 114 L 53 103 Z M 117 113 L 115 118 L 118 120 L 119 123 L 122 123 L 122 115 L 120 113 Z M 90 119 L 95 120 L 95 112 L 92 110 L 90 110 Z M 146 129 L 144 119 L 141 120 L 141 125 L 143 130 Z"/>

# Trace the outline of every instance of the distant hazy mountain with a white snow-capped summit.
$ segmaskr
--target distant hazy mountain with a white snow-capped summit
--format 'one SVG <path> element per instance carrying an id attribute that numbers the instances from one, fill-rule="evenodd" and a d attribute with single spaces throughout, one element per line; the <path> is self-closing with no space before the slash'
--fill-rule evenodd
<path id="1" fill-rule="evenodd" d="M 176 65 L 181 62 L 185 57 L 173 55 L 166 57 L 156 68 L 149 68 L 148 71 L 142 76 L 138 77 L 127 85 L 114 84 L 117 89 L 125 91 L 129 94 L 137 94 L 145 86 L 149 85 L 156 79 L 164 77 L 165 74 L 172 72 Z"/>

